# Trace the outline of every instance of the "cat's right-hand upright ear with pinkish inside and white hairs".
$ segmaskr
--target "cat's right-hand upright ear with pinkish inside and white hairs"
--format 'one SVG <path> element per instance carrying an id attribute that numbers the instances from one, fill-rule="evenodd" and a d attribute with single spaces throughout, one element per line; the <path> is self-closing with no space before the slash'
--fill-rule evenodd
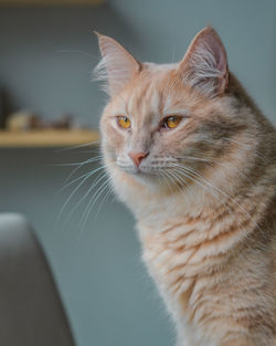
<path id="1" fill-rule="evenodd" d="M 211 27 L 200 31 L 180 62 L 185 82 L 203 94 L 222 95 L 229 83 L 227 55 L 223 43 Z"/>

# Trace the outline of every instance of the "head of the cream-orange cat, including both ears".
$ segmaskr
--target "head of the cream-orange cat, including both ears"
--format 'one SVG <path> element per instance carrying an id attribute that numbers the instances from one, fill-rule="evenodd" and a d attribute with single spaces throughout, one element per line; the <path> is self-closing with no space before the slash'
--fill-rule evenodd
<path id="1" fill-rule="evenodd" d="M 177 64 L 140 63 L 114 39 L 98 40 L 96 75 L 110 96 L 100 130 L 112 174 L 173 190 L 199 180 L 232 150 L 244 120 L 230 97 L 226 52 L 212 28 L 198 33 Z"/>

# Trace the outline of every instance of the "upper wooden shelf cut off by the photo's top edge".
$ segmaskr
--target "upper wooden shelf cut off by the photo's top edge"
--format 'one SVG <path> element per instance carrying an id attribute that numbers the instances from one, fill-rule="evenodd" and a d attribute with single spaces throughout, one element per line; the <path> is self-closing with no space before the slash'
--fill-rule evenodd
<path id="1" fill-rule="evenodd" d="M 0 7 L 96 6 L 104 2 L 104 0 L 0 0 Z"/>

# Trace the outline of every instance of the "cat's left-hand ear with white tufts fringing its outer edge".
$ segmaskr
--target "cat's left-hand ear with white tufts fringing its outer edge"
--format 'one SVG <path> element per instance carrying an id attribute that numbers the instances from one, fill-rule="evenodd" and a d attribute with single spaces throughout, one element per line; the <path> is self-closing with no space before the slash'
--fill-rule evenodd
<path id="1" fill-rule="evenodd" d="M 102 61 L 94 70 L 95 78 L 104 82 L 110 96 L 118 94 L 141 70 L 141 64 L 117 41 L 96 32 Z"/>

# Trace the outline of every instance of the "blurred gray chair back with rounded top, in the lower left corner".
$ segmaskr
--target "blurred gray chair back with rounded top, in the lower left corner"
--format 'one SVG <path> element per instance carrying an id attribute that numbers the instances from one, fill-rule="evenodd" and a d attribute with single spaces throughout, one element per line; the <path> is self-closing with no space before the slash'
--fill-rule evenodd
<path id="1" fill-rule="evenodd" d="M 0 345 L 74 346 L 43 251 L 14 213 L 0 214 Z"/>

